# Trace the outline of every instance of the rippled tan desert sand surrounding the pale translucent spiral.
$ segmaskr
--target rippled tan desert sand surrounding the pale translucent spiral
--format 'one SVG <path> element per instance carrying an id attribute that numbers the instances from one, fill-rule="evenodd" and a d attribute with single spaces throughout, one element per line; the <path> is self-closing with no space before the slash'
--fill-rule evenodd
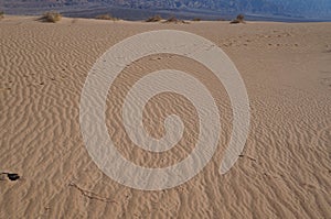
<path id="1" fill-rule="evenodd" d="M 164 134 L 167 114 L 185 124 L 179 146 L 150 153 L 125 133 L 121 105 L 130 87 L 157 69 L 194 75 L 220 109 L 221 141 L 212 161 L 175 188 L 122 186 L 92 161 L 79 129 L 79 98 L 88 70 L 111 45 L 151 30 L 199 34 L 226 52 L 245 81 L 250 129 L 234 167 L 218 174 L 232 130 L 227 95 L 209 69 L 163 54 L 127 66 L 107 99 L 106 124 L 122 156 L 164 167 L 194 149 L 199 124 L 182 96 L 156 96 L 143 112 L 146 130 Z M 161 24 L 35 18 L 0 21 L 0 218 L 330 218 L 331 23 L 227 22 Z M 135 110 L 135 106 L 132 106 Z"/>

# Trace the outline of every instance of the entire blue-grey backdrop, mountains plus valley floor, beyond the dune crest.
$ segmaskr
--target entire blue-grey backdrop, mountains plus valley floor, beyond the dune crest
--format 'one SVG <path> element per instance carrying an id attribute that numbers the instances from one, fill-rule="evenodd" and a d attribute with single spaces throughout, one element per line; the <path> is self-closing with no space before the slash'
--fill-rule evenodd
<path id="1" fill-rule="evenodd" d="M 255 20 L 331 21 L 331 0 L 0 0 L 0 10 L 12 14 L 58 10 L 87 18 L 109 12 L 130 20 L 154 13 L 211 20 L 245 13 Z"/>

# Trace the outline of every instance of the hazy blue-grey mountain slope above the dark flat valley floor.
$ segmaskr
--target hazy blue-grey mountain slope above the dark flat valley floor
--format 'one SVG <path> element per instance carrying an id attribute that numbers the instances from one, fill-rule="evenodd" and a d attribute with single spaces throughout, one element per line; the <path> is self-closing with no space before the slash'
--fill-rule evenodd
<path id="1" fill-rule="evenodd" d="M 248 13 L 330 18 L 331 0 L 0 0 L 0 8 L 15 13 L 45 9 L 117 7 L 140 10 L 214 11 L 221 14 Z M 1 10 L 1 9 L 0 9 Z"/>

